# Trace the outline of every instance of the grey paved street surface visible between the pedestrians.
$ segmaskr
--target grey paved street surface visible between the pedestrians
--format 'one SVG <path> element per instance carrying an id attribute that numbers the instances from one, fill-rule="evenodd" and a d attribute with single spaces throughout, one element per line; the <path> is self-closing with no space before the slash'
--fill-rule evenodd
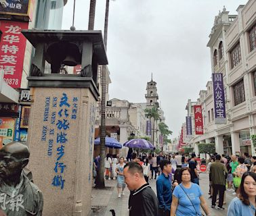
<path id="1" fill-rule="evenodd" d="M 232 192 L 226 191 L 226 205 L 223 205 L 225 210 L 211 209 L 211 199 L 209 199 L 209 177 L 208 173 L 200 173 L 200 187 L 204 196 L 207 200 L 208 206 L 211 210 L 212 216 L 222 216 L 227 215 L 228 204 L 235 197 L 232 195 Z M 150 185 L 154 192 L 156 192 L 156 180 L 150 180 Z M 114 209 L 116 216 L 127 216 L 127 206 L 129 198 L 129 190 L 125 188 L 125 196 L 121 198 L 117 197 L 116 191 L 116 180 L 106 180 L 106 189 L 98 190 L 94 189 L 92 191 L 91 205 L 95 207 L 95 213 L 92 213 L 91 216 L 102 215 L 102 216 L 111 216 L 110 209 Z"/>

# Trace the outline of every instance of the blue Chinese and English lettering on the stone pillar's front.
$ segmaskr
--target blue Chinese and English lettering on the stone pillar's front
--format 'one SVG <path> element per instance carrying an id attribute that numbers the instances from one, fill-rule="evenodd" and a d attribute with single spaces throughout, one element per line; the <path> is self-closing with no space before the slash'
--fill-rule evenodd
<path id="1" fill-rule="evenodd" d="M 64 189 L 65 150 L 71 148 L 72 140 L 69 135 L 71 126 L 77 124 L 78 97 L 68 97 L 63 92 L 61 97 L 45 97 L 41 141 L 47 142 L 48 157 L 54 158 L 52 170 L 54 175 L 50 180 L 51 186 Z M 50 122 L 50 125 L 47 123 Z"/>

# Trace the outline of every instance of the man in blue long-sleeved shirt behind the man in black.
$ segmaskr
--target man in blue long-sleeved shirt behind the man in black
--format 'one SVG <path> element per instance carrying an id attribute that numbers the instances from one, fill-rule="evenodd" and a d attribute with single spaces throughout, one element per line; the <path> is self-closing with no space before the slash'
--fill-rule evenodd
<path id="1" fill-rule="evenodd" d="M 159 205 L 159 216 L 169 216 L 171 211 L 171 162 L 163 159 L 159 163 L 162 173 L 156 180 L 156 192 Z"/>

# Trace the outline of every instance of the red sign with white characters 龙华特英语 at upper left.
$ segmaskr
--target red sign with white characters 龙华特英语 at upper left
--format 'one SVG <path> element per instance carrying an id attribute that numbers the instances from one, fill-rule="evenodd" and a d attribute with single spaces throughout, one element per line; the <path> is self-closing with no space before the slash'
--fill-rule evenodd
<path id="1" fill-rule="evenodd" d="M 26 38 L 20 32 L 28 29 L 28 22 L 0 21 L 3 32 L 0 41 L 0 70 L 3 79 L 12 88 L 20 88 L 26 48 Z"/>

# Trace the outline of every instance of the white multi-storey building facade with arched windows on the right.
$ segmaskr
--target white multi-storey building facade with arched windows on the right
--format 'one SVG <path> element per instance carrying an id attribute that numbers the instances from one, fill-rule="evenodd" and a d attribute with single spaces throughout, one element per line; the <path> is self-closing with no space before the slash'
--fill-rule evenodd
<path id="1" fill-rule="evenodd" d="M 195 151 L 198 143 L 215 143 L 219 154 L 255 155 L 251 135 L 256 134 L 256 2 L 249 0 L 237 11 L 237 16 L 230 16 L 223 8 L 215 17 L 207 44 L 211 72 L 223 74 L 227 122 L 215 124 L 213 84 L 209 81 L 196 102 L 202 106 L 204 134 L 193 136 Z"/>

